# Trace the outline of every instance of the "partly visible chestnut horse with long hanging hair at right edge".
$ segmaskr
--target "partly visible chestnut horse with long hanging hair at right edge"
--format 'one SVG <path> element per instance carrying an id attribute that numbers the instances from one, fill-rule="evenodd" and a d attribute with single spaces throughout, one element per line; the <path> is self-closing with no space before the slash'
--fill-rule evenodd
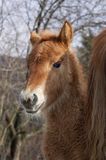
<path id="1" fill-rule="evenodd" d="M 106 30 L 94 39 L 88 81 L 88 150 L 90 160 L 103 160 L 106 116 Z"/>

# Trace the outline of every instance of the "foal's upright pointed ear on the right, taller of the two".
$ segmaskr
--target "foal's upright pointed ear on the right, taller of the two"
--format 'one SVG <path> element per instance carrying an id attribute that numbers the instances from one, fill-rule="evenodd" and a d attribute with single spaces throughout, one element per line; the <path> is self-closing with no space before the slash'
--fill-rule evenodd
<path id="1" fill-rule="evenodd" d="M 73 36 L 72 26 L 68 21 L 65 21 L 59 33 L 59 39 L 60 41 L 64 42 L 67 46 L 69 46 L 72 40 L 72 36 Z"/>

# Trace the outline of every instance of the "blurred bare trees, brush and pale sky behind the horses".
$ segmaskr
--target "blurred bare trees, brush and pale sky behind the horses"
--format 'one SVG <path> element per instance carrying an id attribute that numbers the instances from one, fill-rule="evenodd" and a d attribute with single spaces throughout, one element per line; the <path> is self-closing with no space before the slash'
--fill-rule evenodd
<path id="1" fill-rule="evenodd" d="M 106 28 L 106 0 L 0 0 L 0 160 L 40 160 L 42 122 L 20 109 L 32 30 L 74 28 L 73 46 L 88 74 L 92 39 Z"/>

